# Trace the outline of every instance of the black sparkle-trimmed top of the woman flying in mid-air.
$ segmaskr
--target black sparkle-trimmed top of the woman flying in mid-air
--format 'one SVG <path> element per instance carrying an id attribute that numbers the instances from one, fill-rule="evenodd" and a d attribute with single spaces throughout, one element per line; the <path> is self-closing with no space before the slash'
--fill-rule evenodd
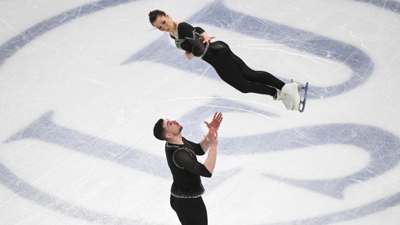
<path id="1" fill-rule="evenodd" d="M 200 35 L 203 32 L 205 31 L 200 27 L 193 27 L 188 23 L 181 22 L 178 24 L 178 39 L 175 39 L 172 35 L 171 38 L 175 40 L 178 49 L 202 57 L 208 48 L 208 43 L 203 44 L 203 38 Z"/>

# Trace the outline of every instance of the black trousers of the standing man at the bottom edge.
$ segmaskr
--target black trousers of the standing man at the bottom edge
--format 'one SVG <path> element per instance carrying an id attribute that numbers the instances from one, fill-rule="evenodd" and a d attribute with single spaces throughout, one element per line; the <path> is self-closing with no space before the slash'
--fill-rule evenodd
<path id="1" fill-rule="evenodd" d="M 171 207 L 182 225 L 206 225 L 207 209 L 201 197 L 183 199 L 171 195 Z"/>

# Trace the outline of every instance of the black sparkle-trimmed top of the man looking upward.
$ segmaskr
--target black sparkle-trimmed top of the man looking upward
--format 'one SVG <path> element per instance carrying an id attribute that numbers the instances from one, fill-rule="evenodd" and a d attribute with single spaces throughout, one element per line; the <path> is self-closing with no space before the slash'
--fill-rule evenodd
<path id="1" fill-rule="evenodd" d="M 171 194 L 178 198 L 197 198 L 205 191 L 200 176 L 211 177 L 212 174 L 197 161 L 196 155 L 204 155 L 200 144 L 182 140 L 183 144 L 165 144 L 168 166 L 174 178 Z"/>

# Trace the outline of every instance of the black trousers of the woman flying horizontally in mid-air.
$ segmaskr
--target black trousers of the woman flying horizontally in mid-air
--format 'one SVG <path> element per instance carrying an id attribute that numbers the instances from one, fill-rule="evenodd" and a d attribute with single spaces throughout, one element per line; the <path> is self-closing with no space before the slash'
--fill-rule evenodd
<path id="1" fill-rule="evenodd" d="M 285 82 L 268 72 L 250 69 L 231 51 L 228 44 L 222 41 L 211 42 L 202 59 L 214 67 L 223 81 L 242 93 L 274 96 L 276 89 L 282 90 L 285 85 Z"/>

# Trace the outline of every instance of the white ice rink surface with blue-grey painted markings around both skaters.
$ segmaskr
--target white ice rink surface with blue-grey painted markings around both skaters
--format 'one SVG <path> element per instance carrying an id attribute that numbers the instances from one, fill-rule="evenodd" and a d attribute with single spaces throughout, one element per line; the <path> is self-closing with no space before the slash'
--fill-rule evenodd
<path id="1" fill-rule="evenodd" d="M 186 60 L 155 9 L 308 81 L 305 112 Z M 400 224 L 400 1 L 3 0 L 0 31 L 0 224 L 178 224 L 153 124 L 198 142 L 216 111 L 209 224 Z"/>

